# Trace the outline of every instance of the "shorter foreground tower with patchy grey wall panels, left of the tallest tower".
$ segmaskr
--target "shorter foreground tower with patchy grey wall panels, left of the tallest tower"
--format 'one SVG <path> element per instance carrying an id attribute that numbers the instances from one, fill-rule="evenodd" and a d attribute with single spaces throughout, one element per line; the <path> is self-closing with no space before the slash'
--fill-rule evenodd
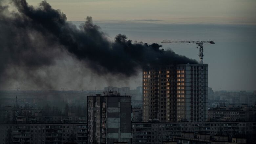
<path id="1" fill-rule="evenodd" d="M 87 97 L 88 142 L 110 144 L 125 141 L 131 144 L 131 96 L 117 92 Z"/>

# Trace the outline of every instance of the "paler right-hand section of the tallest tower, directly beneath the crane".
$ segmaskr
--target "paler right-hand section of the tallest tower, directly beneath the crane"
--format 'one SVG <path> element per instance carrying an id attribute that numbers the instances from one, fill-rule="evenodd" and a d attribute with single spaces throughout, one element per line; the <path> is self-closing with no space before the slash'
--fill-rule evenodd
<path id="1" fill-rule="evenodd" d="M 207 121 L 208 66 L 177 66 L 177 121 Z"/>

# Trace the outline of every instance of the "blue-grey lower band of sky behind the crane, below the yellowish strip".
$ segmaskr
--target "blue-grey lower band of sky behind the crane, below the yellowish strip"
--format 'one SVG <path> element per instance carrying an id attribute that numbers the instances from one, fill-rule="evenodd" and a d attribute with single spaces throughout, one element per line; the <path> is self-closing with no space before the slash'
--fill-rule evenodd
<path id="1" fill-rule="evenodd" d="M 77 26 L 83 22 L 73 22 Z M 213 90 L 256 90 L 256 27 L 254 25 L 158 24 L 134 21 L 95 22 L 112 38 L 118 33 L 135 41 L 160 43 L 199 61 L 196 44 L 168 44 L 162 40 L 214 40 L 204 44 L 204 64 L 208 64 L 208 87 Z M 198 49 L 199 53 L 199 49 Z M 139 85 L 135 77 L 136 84 Z M 141 82 L 142 84 L 142 82 Z M 140 84 L 140 85 L 141 85 Z"/>

